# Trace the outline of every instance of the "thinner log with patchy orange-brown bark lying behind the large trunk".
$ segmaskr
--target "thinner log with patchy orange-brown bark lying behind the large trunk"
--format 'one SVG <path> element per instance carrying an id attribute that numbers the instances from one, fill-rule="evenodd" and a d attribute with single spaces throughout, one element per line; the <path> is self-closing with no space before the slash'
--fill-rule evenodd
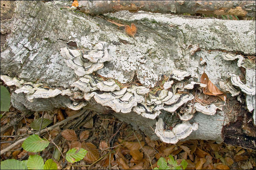
<path id="1" fill-rule="evenodd" d="M 129 10 L 172 14 L 215 14 L 255 17 L 255 1 L 79 1 L 80 11 L 104 14 Z"/>

